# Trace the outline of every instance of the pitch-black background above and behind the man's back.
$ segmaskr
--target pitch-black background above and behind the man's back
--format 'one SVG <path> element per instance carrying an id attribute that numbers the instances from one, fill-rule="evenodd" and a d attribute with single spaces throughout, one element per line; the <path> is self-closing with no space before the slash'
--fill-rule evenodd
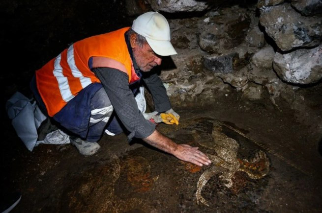
<path id="1" fill-rule="evenodd" d="M 124 0 L 1 1 L 3 104 L 16 91 L 30 95 L 34 71 L 71 43 L 130 26 L 125 12 Z"/>

